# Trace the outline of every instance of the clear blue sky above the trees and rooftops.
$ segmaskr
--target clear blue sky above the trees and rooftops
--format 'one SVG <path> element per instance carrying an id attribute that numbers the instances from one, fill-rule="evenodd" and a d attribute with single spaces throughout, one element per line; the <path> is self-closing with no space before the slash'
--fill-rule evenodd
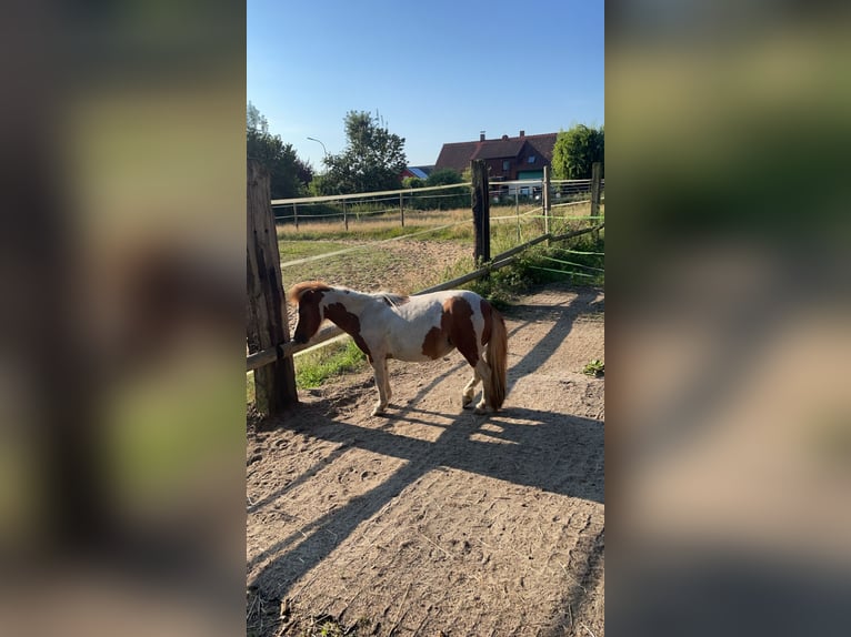
<path id="1" fill-rule="evenodd" d="M 322 170 L 348 111 L 378 112 L 410 165 L 444 142 L 601 125 L 602 0 L 248 0 L 248 95 Z"/>

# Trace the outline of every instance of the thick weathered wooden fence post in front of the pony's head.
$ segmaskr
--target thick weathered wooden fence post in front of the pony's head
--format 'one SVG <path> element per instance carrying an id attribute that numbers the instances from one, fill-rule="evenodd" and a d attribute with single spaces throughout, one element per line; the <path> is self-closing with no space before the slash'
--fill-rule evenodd
<path id="1" fill-rule="evenodd" d="M 280 346 L 290 340 L 284 307 L 278 234 L 270 203 L 269 173 L 257 161 L 248 161 L 248 345 L 249 353 Z M 279 415 L 299 402 L 292 356 L 254 371 L 257 408 Z"/>

